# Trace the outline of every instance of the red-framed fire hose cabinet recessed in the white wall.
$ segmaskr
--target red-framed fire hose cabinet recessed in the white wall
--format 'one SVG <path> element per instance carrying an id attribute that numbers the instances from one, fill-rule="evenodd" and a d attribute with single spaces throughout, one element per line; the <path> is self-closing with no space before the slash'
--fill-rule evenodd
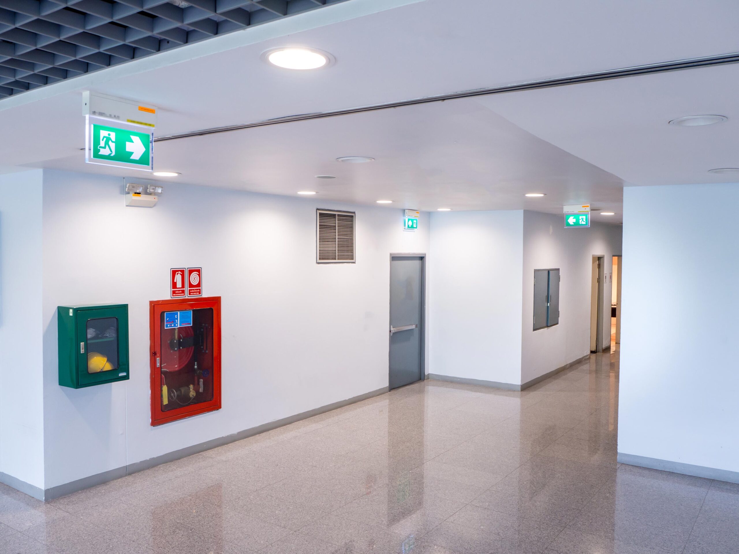
<path id="1" fill-rule="evenodd" d="M 221 298 L 149 302 L 151 425 L 221 408 Z"/>

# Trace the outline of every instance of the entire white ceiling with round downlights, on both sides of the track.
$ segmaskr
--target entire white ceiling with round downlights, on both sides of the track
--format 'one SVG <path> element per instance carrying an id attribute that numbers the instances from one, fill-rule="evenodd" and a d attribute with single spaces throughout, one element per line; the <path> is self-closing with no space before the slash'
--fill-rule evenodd
<path id="1" fill-rule="evenodd" d="M 101 172 L 79 150 L 85 89 L 158 106 L 163 136 L 733 52 L 738 18 L 739 3 L 718 0 L 350 0 L 2 100 L 13 133 L 0 134 L 0 168 Z M 302 73 L 259 58 L 285 44 L 337 64 Z M 620 211 L 624 182 L 717 182 L 707 169 L 739 165 L 738 84 L 722 66 L 286 123 L 157 143 L 155 165 L 181 182 L 409 208 Z M 706 112 L 729 122 L 667 126 Z M 339 178 L 313 179 L 325 173 Z M 548 196 L 523 199 L 532 189 Z"/>

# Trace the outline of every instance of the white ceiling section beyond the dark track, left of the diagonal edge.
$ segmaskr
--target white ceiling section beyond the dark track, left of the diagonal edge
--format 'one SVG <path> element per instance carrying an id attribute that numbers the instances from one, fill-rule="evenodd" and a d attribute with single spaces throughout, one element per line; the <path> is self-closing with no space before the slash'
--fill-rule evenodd
<path id="1" fill-rule="evenodd" d="M 621 180 L 523 131 L 477 100 L 449 100 L 156 143 L 155 165 L 200 185 L 423 211 L 522 209 L 562 203 L 616 209 Z M 372 163 L 339 163 L 366 155 Z M 80 168 L 80 154 L 51 163 Z M 106 168 L 88 165 L 90 171 Z M 112 174 L 115 171 L 108 170 Z M 135 172 L 140 173 L 140 172 Z M 316 175 L 336 179 L 317 179 Z M 524 192 L 543 192 L 528 199 Z M 593 200 L 594 201 L 594 200 Z"/>

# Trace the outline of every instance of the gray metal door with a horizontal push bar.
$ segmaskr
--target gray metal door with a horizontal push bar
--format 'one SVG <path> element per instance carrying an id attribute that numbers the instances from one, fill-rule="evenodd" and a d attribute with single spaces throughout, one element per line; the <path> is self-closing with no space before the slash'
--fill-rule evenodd
<path id="1" fill-rule="evenodd" d="M 423 258 L 390 259 L 390 389 L 423 378 Z"/>

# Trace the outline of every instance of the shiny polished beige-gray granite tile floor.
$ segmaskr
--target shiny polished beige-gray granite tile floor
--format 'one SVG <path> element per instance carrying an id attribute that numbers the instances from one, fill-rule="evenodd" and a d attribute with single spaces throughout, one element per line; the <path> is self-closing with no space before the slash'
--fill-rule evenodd
<path id="1" fill-rule="evenodd" d="M 617 357 L 416 383 L 45 505 L 0 485 L 0 554 L 739 553 L 739 485 L 616 463 Z"/>

